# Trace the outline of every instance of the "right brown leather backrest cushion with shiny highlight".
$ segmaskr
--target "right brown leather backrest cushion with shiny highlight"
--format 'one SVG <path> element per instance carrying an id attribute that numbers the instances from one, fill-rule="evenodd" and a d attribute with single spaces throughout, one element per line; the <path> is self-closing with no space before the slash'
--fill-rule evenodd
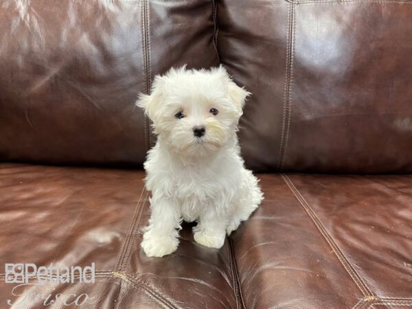
<path id="1" fill-rule="evenodd" d="M 255 170 L 412 172 L 412 1 L 221 0 Z"/>

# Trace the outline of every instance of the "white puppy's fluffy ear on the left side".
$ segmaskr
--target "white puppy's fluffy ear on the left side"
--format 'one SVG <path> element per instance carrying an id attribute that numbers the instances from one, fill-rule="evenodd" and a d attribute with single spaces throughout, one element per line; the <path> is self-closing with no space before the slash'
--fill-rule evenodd
<path id="1" fill-rule="evenodd" d="M 156 122 L 159 117 L 160 107 L 162 105 L 162 93 L 165 81 L 162 76 L 156 76 L 152 84 L 150 95 L 140 93 L 137 98 L 136 105 L 143 108 L 145 115 L 147 115 L 152 122 Z"/>

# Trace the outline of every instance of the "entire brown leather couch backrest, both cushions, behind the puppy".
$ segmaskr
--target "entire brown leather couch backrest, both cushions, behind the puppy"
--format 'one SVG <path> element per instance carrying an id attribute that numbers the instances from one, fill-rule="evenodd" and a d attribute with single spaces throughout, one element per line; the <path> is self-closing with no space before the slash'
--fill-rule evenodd
<path id="1" fill-rule="evenodd" d="M 409 0 L 51 3 L 1 6 L 3 160 L 141 167 L 155 137 L 137 93 L 222 63 L 253 93 L 249 168 L 412 171 Z"/>

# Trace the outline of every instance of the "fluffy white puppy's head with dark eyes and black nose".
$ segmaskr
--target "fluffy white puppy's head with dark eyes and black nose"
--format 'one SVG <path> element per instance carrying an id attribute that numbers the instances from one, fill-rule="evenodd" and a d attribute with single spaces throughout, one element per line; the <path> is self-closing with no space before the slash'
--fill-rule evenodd
<path id="1" fill-rule="evenodd" d="M 162 142 L 181 154 L 201 156 L 235 138 L 249 94 L 221 66 L 181 67 L 156 76 L 151 94 L 139 95 L 137 106 L 144 108 Z"/>

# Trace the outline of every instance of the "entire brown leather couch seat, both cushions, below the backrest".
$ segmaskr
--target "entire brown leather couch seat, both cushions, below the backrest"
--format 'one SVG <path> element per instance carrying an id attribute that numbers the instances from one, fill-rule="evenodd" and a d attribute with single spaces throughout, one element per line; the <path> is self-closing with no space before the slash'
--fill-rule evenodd
<path id="1" fill-rule="evenodd" d="M 96 282 L 34 281 L 15 297 L 2 273 L 0 299 L 14 308 L 45 308 L 30 295 L 56 293 L 87 293 L 84 308 L 412 306 L 411 176 L 258 176 L 266 198 L 222 249 L 196 244 L 184 225 L 179 249 L 159 259 L 139 247 L 150 214 L 143 172 L 3 163 L 1 264 L 95 262 Z"/>

